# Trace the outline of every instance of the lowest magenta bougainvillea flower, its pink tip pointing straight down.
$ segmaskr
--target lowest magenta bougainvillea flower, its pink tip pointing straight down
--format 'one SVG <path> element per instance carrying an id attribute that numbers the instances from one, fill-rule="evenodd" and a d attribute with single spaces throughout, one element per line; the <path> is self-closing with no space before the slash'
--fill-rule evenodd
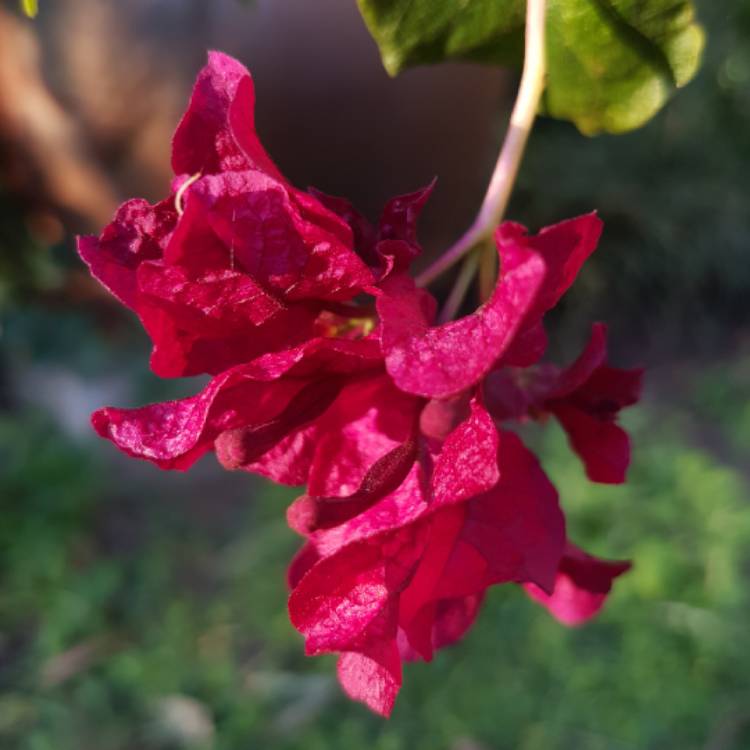
<path id="1" fill-rule="evenodd" d="M 434 649 L 460 638 L 489 586 L 555 586 L 565 543 L 557 493 L 513 433 L 496 436 L 498 472 L 485 470 L 484 481 L 474 476 L 477 456 L 465 460 L 460 451 L 483 419 L 476 404 L 472 411 L 466 422 L 475 424 L 443 446 L 448 455 L 442 462 L 437 455 L 431 483 L 429 470 L 415 465 L 422 481 L 400 498 L 414 509 L 411 522 L 399 524 L 378 507 L 393 505 L 392 496 L 383 498 L 348 522 L 347 534 L 311 535 L 290 575 L 290 616 L 307 652 L 341 653 L 342 686 L 378 713 L 390 713 L 401 660 L 430 660 Z M 448 474 L 455 495 L 441 491 Z M 389 518 L 392 528 L 383 531 Z"/>

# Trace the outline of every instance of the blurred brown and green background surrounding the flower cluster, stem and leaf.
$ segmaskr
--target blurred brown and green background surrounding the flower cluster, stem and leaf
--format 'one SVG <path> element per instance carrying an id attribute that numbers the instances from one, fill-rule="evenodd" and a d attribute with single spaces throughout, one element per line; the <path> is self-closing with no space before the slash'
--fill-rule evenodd
<path id="1" fill-rule="evenodd" d="M 462 644 L 406 668 L 384 722 L 288 623 L 294 491 L 211 457 L 161 472 L 94 438 L 94 408 L 200 381 L 148 372 L 145 334 L 73 237 L 165 194 L 218 48 L 253 72 L 261 137 L 296 184 L 375 219 L 437 176 L 435 254 L 478 205 L 514 76 L 390 80 L 354 0 L 42 0 L 35 22 L 1 0 L 0 748 L 750 748 L 750 2 L 697 6 L 697 79 L 626 136 L 540 120 L 510 211 L 605 221 L 552 353 L 601 319 L 615 363 L 648 368 L 630 481 L 589 485 L 555 425 L 532 438 L 573 538 L 635 568 L 576 630 L 494 590 Z"/>

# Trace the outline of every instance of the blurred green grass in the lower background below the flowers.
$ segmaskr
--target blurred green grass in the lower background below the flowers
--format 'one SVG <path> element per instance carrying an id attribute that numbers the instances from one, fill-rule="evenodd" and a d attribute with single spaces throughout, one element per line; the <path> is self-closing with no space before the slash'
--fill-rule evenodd
<path id="1" fill-rule="evenodd" d="M 748 747 L 748 367 L 635 413 L 624 487 L 587 483 L 559 429 L 532 434 L 572 537 L 634 570 L 582 629 L 493 590 L 461 645 L 407 667 L 390 722 L 339 694 L 331 659 L 302 655 L 288 491 L 162 494 L 176 475 L 127 483 L 43 417 L 5 415 L 0 747 Z"/>

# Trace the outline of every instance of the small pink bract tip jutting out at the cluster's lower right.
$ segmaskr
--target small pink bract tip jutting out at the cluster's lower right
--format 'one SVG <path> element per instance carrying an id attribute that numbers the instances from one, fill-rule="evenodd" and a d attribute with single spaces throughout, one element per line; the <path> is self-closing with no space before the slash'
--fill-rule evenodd
<path id="1" fill-rule="evenodd" d="M 552 592 L 534 583 L 524 588 L 564 625 L 582 625 L 602 608 L 615 578 L 630 568 L 625 560 L 601 560 L 568 543 Z"/>

